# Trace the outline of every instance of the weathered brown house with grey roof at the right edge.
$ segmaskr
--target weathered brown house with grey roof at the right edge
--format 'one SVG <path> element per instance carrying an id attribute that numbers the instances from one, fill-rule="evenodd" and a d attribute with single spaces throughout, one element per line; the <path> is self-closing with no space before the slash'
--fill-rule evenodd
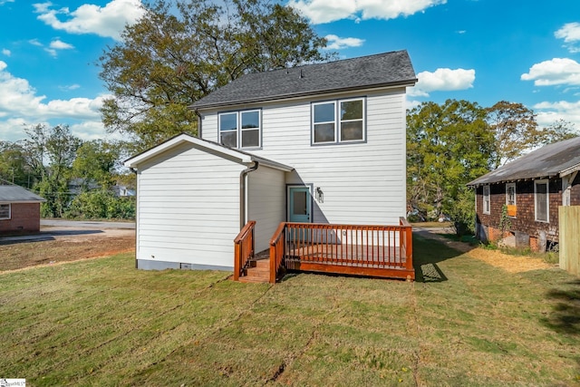
<path id="1" fill-rule="evenodd" d="M 558 207 L 580 205 L 578 170 L 580 137 L 546 145 L 469 182 L 476 189 L 476 237 L 487 243 L 513 236 L 516 247 L 536 251 L 555 245 Z"/>

